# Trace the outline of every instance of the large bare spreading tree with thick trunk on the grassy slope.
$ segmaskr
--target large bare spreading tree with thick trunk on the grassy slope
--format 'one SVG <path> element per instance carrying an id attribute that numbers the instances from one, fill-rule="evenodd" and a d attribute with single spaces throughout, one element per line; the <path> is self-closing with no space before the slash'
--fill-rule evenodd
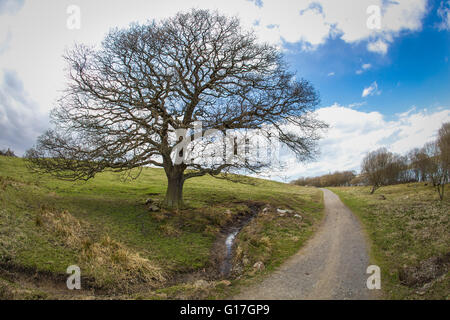
<path id="1" fill-rule="evenodd" d="M 71 180 L 163 167 L 169 207 L 181 205 L 189 178 L 265 166 L 175 161 L 186 158 L 179 144 L 190 141 L 195 123 L 202 124 L 201 136 L 211 129 L 258 130 L 299 160 L 314 155 L 318 130 L 326 127 L 312 116 L 318 103 L 313 86 L 296 80 L 280 51 L 259 43 L 237 18 L 217 12 L 192 10 L 112 30 L 100 48 L 77 45 L 65 59 L 69 81 L 51 114 L 54 128 L 27 158 Z M 186 133 L 175 135 L 177 130 Z"/>

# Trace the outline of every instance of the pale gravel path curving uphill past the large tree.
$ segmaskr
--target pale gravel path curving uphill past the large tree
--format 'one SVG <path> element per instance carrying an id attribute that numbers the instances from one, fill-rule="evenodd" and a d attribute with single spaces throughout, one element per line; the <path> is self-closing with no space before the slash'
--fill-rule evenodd
<path id="1" fill-rule="evenodd" d="M 316 235 L 263 282 L 236 299 L 373 299 L 366 241 L 353 213 L 323 189 L 325 218 Z"/>

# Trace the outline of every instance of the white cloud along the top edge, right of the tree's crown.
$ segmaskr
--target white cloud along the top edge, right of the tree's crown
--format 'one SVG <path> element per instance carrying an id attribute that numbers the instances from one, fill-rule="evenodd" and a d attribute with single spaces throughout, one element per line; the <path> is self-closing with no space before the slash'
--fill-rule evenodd
<path id="1" fill-rule="evenodd" d="M 426 0 L 272 0 L 255 10 L 256 30 L 265 41 L 304 42 L 314 49 L 329 38 L 347 43 L 368 41 L 367 49 L 386 54 L 389 43 L 402 31 L 417 31 L 426 14 Z M 369 6 L 380 8 L 380 29 L 370 29 Z M 349 10 L 348 8 L 352 8 Z M 270 29 L 268 26 L 276 25 Z"/>

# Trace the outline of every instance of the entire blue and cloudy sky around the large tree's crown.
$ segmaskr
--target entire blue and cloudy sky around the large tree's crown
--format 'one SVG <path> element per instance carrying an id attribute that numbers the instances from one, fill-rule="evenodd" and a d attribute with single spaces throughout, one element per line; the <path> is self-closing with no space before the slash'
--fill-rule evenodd
<path id="1" fill-rule="evenodd" d="M 0 0 L 0 149 L 22 155 L 50 127 L 65 50 L 190 8 L 237 15 L 320 93 L 320 155 L 271 178 L 359 170 L 368 151 L 405 153 L 450 121 L 449 0 Z"/>

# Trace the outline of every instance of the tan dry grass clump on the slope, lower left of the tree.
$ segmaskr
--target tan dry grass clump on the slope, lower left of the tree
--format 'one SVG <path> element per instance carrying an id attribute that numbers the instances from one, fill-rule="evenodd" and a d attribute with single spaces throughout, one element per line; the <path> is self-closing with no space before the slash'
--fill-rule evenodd
<path id="1" fill-rule="evenodd" d="M 95 241 L 85 232 L 87 223 L 67 211 L 42 207 L 36 224 L 79 250 L 82 272 L 87 269 L 97 286 L 129 291 L 133 285 L 156 286 L 165 281 L 160 267 L 107 235 Z"/>

